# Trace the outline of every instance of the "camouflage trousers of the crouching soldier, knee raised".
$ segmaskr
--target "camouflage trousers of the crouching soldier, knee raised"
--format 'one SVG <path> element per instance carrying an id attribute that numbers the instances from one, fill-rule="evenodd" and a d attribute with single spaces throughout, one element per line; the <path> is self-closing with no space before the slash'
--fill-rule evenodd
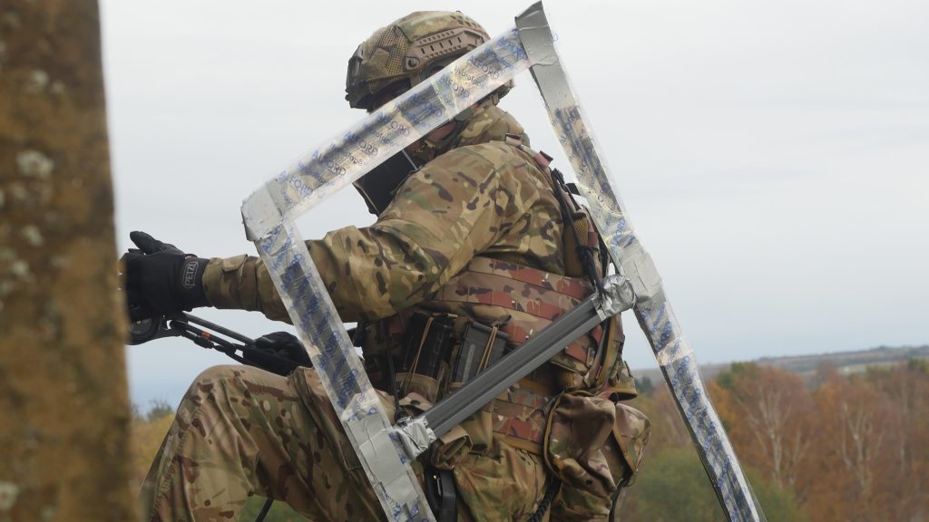
<path id="1" fill-rule="evenodd" d="M 382 401 L 392 414 L 393 401 Z M 545 489 L 540 457 L 496 441 L 454 475 L 465 521 L 526 520 Z M 320 522 L 385 519 L 313 370 L 285 378 L 220 366 L 198 376 L 142 486 L 142 519 L 234 522 L 251 495 Z"/>

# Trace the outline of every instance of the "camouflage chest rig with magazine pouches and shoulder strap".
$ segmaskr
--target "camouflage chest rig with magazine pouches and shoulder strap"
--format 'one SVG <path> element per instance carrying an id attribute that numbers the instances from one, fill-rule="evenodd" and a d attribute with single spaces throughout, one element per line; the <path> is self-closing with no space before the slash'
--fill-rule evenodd
<path id="1" fill-rule="evenodd" d="M 365 354 L 366 369 L 375 386 L 398 397 L 398 406 L 408 406 L 411 397 L 432 403 L 464 385 L 593 294 L 607 275 L 606 249 L 593 220 L 561 174 L 549 168 L 551 158 L 530 150 L 516 135 L 506 135 L 505 141 L 536 164 L 561 203 L 565 274 L 476 256 L 415 311 L 360 324 L 356 344 Z M 623 341 L 616 316 L 566 346 L 484 407 L 492 433 L 512 446 L 539 452 L 546 405 L 559 393 L 584 390 L 634 398 L 635 382 L 622 360 Z M 406 404 L 399 401 L 404 396 Z M 487 423 L 465 424 L 472 432 Z"/>

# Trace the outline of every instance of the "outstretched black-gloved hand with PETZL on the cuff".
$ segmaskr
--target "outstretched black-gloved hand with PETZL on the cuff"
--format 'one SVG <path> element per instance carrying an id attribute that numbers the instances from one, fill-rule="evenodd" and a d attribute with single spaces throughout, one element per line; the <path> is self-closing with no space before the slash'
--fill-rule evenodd
<path id="1" fill-rule="evenodd" d="M 203 270 L 207 259 L 184 254 L 175 245 L 132 232 L 136 243 L 120 260 L 131 320 L 209 305 L 203 292 Z"/>

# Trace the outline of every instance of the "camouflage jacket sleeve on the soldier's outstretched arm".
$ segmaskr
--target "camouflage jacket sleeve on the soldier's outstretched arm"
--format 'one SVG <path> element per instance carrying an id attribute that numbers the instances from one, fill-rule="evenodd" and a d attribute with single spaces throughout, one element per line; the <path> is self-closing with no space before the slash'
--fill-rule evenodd
<path id="1" fill-rule="evenodd" d="M 307 241 L 342 320 L 386 317 L 424 300 L 529 212 L 545 187 L 537 172 L 503 143 L 451 150 L 410 176 L 371 227 Z M 203 282 L 215 307 L 287 320 L 254 257 L 213 259 Z"/>

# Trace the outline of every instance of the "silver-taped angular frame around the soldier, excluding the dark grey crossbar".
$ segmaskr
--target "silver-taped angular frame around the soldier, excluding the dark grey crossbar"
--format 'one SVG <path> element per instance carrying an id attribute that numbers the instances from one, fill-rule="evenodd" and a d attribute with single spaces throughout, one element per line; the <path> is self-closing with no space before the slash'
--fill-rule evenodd
<path id="1" fill-rule="evenodd" d="M 662 371 L 726 515 L 730 520 L 758 520 L 760 510 L 750 501 L 747 481 L 709 403 L 658 272 L 610 185 L 561 69 L 541 3 L 517 17 L 517 28 L 455 60 L 269 180 L 242 204 L 246 235 L 255 242 L 388 519 L 433 520 L 404 450 L 404 443 L 427 444 L 428 426 L 421 426 L 422 433 L 413 440 L 401 440 L 391 426 L 293 220 L 530 68 L 531 62 L 556 135 L 614 264 L 632 283 L 636 317 L 656 356 L 666 354 Z M 681 347 L 687 353 L 674 357 Z"/>

